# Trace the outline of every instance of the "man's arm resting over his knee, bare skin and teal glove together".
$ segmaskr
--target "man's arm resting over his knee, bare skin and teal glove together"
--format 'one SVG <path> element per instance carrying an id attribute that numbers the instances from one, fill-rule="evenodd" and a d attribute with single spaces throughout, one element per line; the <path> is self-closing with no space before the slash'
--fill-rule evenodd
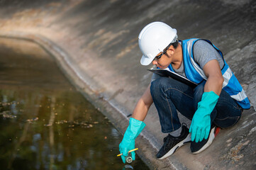
<path id="1" fill-rule="evenodd" d="M 204 73 L 208 77 L 204 85 L 204 94 L 194 113 L 189 132 L 191 141 L 201 142 L 207 139 L 211 130 L 211 112 L 221 94 L 223 77 L 217 60 L 211 60 L 204 65 Z"/>

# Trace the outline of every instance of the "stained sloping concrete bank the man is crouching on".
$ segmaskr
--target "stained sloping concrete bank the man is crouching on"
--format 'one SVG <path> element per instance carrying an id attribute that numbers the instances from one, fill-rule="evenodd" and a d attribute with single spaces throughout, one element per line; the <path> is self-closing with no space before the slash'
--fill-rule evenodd
<path id="1" fill-rule="evenodd" d="M 256 1 L 0 1 L 0 34 L 40 44 L 67 77 L 125 132 L 127 115 L 150 82 L 140 65 L 140 30 L 163 21 L 179 39 L 204 38 L 222 50 L 252 103 L 240 122 L 221 130 L 211 147 L 193 155 L 186 145 L 155 159 L 165 134 L 150 108 L 136 145 L 151 169 L 254 169 L 256 106 Z M 190 122 L 183 118 L 182 122 Z M 118 146 L 117 146 L 118 147 Z"/>

